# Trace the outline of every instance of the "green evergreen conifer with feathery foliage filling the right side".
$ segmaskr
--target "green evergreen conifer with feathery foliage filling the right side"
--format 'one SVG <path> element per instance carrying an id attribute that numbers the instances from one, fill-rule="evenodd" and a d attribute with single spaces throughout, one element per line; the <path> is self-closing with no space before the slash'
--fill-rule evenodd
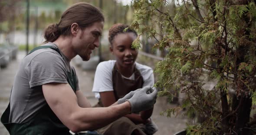
<path id="1" fill-rule="evenodd" d="M 187 96 L 181 106 L 165 113 L 170 116 L 186 108 L 186 115 L 205 118 L 188 125 L 187 134 L 256 133 L 255 4 L 255 0 L 132 1 L 131 27 L 155 39 L 154 49 L 168 52 L 155 69 L 159 96 L 173 98 L 171 90 Z M 139 38 L 133 46 L 140 47 Z M 207 88 L 209 83 L 215 87 Z"/>

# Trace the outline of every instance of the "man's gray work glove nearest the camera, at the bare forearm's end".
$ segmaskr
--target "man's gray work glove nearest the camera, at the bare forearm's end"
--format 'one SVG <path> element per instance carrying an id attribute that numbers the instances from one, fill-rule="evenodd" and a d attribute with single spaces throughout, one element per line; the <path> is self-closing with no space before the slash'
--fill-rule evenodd
<path id="1" fill-rule="evenodd" d="M 130 99 L 125 100 L 131 104 L 131 113 L 148 110 L 154 106 L 158 91 L 154 90 L 152 93 L 147 94 L 148 91 L 151 91 L 150 86 L 143 87 L 134 93 Z"/>

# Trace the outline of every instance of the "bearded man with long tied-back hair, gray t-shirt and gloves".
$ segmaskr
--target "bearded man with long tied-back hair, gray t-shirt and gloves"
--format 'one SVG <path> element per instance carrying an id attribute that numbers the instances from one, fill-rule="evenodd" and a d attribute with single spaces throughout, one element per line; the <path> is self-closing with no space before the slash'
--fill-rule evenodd
<path id="1" fill-rule="evenodd" d="M 110 107 L 90 108 L 69 63 L 76 55 L 89 60 L 99 45 L 103 24 L 97 8 L 76 3 L 58 24 L 48 26 L 46 44 L 23 58 L 16 73 L 10 104 L 1 117 L 10 135 L 69 135 L 69 130 L 94 130 L 154 105 L 157 91 L 147 94 L 151 88 L 144 87 Z"/>

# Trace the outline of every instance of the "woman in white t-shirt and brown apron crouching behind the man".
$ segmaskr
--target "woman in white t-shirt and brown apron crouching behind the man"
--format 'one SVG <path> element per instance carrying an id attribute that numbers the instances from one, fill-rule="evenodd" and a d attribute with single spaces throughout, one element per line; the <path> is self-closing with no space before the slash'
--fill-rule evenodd
<path id="1" fill-rule="evenodd" d="M 109 29 L 109 49 L 116 60 L 104 61 L 97 66 L 92 89 L 99 100 L 97 106 L 111 106 L 132 90 L 147 85 L 153 87 L 151 67 L 135 62 L 138 50 L 131 48 L 131 44 L 137 36 L 137 32 L 124 24 L 115 24 Z M 98 132 L 104 135 L 152 135 L 158 130 L 150 119 L 152 112 L 153 108 L 138 114 L 128 114 L 98 129 Z"/>

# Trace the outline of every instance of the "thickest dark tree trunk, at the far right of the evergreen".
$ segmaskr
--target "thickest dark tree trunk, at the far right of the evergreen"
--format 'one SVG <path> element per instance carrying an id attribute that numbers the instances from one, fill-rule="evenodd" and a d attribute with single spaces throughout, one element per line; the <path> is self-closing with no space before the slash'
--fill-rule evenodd
<path id="1" fill-rule="evenodd" d="M 248 4 L 248 1 L 241 0 L 240 4 Z M 244 25 L 246 25 L 246 28 L 250 28 L 250 18 L 248 16 L 245 16 L 246 13 L 244 13 Z M 241 62 L 246 62 L 245 56 L 249 52 L 249 46 L 253 42 L 249 42 L 251 39 L 249 39 L 249 29 L 241 29 L 240 30 L 243 34 L 238 35 L 239 38 L 243 39 L 242 37 L 245 37 L 240 42 L 240 45 L 238 48 L 236 48 L 236 61 L 234 62 L 235 65 L 235 72 L 238 71 L 238 67 Z M 247 35 L 247 36 L 246 36 Z M 246 93 L 249 93 L 249 89 L 246 86 L 244 82 L 246 82 L 248 78 L 247 77 L 238 77 L 235 75 L 235 81 L 236 81 L 236 95 L 233 95 L 233 102 L 232 102 L 232 110 L 235 111 L 235 115 L 233 115 L 234 120 L 234 132 L 236 132 L 238 135 L 250 135 L 250 130 L 248 129 L 248 123 L 250 119 L 250 112 L 251 112 L 251 106 L 252 106 L 252 99 L 251 95 L 247 95 Z"/>

